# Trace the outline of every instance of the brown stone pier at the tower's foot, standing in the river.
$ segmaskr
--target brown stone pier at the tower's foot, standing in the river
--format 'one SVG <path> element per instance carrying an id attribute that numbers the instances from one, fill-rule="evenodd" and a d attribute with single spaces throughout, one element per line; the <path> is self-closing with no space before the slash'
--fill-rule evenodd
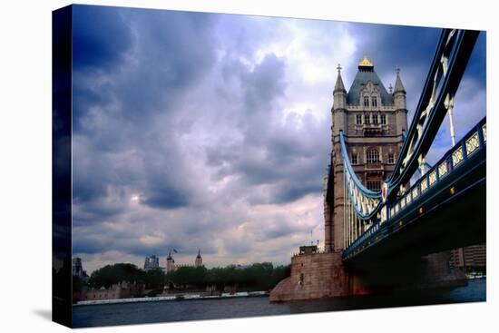
<path id="1" fill-rule="evenodd" d="M 465 285 L 465 274 L 450 267 L 449 252 L 412 260 L 347 267 L 341 251 L 304 253 L 291 258 L 291 274 L 271 290 L 271 302 L 390 293 L 406 289 Z"/>

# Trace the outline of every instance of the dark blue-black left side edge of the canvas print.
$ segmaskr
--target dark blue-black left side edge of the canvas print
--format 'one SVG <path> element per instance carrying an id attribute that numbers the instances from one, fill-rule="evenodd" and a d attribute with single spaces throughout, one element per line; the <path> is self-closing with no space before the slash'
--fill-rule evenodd
<path id="1" fill-rule="evenodd" d="M 52 12 L 52 319 L 72 327 L 73 7 Z"/>

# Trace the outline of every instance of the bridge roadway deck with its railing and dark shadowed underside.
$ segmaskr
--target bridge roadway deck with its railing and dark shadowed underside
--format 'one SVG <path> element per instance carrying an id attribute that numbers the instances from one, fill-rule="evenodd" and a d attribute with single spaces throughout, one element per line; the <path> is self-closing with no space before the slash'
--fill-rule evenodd
<path id="1" fill-rule="evenodd" d="M 375 224 L 344 250 L 344 264 L 353 269 L 379 269 L 390 263 L 484 242 L 485 191 L 484 118 L 403 198 L 386 206 L 387 220 Z M 409 195 L 410 200 L 406 200 Z"/>

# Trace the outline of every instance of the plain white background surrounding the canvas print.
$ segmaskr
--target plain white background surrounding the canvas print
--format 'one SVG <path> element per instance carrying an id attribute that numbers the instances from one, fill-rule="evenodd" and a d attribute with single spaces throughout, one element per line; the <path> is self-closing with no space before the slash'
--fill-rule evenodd
<path id="1" fill-rule="evenodd" d="M 487 302 L 152 324 L 93 331 L 283 332 L 365 330 L 476 332 L 497 329 L 497 246 L 492 218 L 499 165 L 497 9 L 493 1 L 95 1 L 203 12 L 278 15 L 487 30 Z M 0 329 L 63 331 L 51 316 L 51 11 L 64 1 L 12 1 L 0 12 Z M 495 17 L 494 17 L 495 16 Z M 494 77 L 495 74 L 495 77 Z M 496 238 L 496 237 L 495 237 Z M 495 316 L 495 318 L 494 318 Z"/>

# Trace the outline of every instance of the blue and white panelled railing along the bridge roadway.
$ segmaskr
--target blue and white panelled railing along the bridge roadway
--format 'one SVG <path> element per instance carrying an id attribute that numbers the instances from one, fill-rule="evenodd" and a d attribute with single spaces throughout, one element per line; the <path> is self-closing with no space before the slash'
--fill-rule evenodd
<path id="1" fill-rule="evenodd" d="M 435 163 L 435 165 L 425 173 L 413 186 L 404 191 L 393 203 L 385 203 L 380 207 L 381 217 L 376 220 L 370 228 L 363 232 L 356 240 L 351 242 L 347 249 L 344 250 L 344 258 L 355 255 L 358 248 L 364 245 L 367 241 L 370 243 L 383 237 L 382 225 L 384 223 L 392 223 L 394 220 L 402 216 L 408 209 L 412 209 L 422 198 L 426 192 L 435 187 L 439 181 L 444 181 L 447 177 L 465 164 L 465 162 L 473 157 L 475 153 L 486 149 L 487 128 L 486 117 L 478 122 L 469 132 L 465 134 L 463 139 L 455 144 L 453 148 L 445 152 L 444 156 Z M 452 190 L 451 190 L 452 191 Z"/>

